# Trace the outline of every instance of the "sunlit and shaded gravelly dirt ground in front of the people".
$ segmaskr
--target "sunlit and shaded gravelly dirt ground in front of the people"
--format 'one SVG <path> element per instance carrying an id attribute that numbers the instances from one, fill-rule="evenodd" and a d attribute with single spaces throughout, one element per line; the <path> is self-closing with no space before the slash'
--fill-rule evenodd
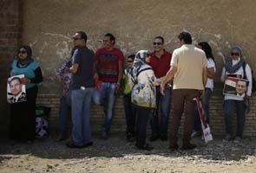
<path id="1" fill-rule="evenodd" d="M 168 142 L 155 141 L 153 151 L 138 151 L 123 133 L 108 140 L 94 135 L 93 146 L 69 149 L 54 138 L 37 139 L 34 144 L 0 143 L 0 172 L 256 172 L 256 138 L 245 138 L 240 144 L 224 143 L 214 138 L 191 151 L 167 149 Z"/>

